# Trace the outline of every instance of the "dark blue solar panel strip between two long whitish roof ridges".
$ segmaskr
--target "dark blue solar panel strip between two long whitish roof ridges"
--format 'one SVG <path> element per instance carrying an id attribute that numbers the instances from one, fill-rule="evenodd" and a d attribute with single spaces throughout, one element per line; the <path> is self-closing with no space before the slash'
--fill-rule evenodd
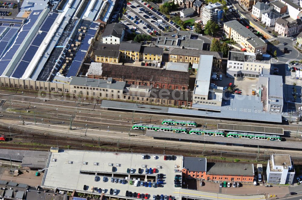
<path id="1" fill-rule="evenodd" d="M 42 44 L 45 36 L 47 35 L 47 32 L 50 30 L 50 27 L 53 25 L 57 16 L 58 16 L 58 13 L 49 13 L 48 14 L 46 20 L 43 22 L 43 25 L 40 27 L 39 32 L 34 37 L 34 39 L 31 42 L 31 45 L 27 48 L 21 61 L 16 66 L 13 74 L 11 75 L 12 77 L 21 78 L 23 76 L 29 63 L 31 62 L 31 60 L 34 57 L 35 52 L 38 51 L 38 48 Z"/>

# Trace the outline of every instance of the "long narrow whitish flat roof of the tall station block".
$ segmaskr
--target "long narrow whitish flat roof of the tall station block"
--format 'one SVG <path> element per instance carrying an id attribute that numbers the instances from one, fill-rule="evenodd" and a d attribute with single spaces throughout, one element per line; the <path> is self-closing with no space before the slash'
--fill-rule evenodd
<path id="1" fill-rule="evenodd" d="M 211 81 L 212 63 L 212 55 L 200 55 L 195 81 L 196 87 L 194 88 L 195 95 L 208 96 Z"/>

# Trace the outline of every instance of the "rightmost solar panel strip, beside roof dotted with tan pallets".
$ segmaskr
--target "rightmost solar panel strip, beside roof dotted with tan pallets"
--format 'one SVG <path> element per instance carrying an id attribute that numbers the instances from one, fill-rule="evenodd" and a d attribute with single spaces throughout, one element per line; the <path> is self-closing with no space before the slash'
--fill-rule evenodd
<path id="1" fill-rule="evenodd" d="M 85 55 L 87 54 L 89 46 L 91 45 L 91 40 L 95 37 L 98 26 L 99 24 L 95 22 L 92 22 L 90 24 L 87 34 L 85 35 L 85 38 L 81 43 L 79 51 L 76 53 L 76 56 L 69 67 L 66 77 L 76 76 L 76 74 L 78 73 Z"/>

